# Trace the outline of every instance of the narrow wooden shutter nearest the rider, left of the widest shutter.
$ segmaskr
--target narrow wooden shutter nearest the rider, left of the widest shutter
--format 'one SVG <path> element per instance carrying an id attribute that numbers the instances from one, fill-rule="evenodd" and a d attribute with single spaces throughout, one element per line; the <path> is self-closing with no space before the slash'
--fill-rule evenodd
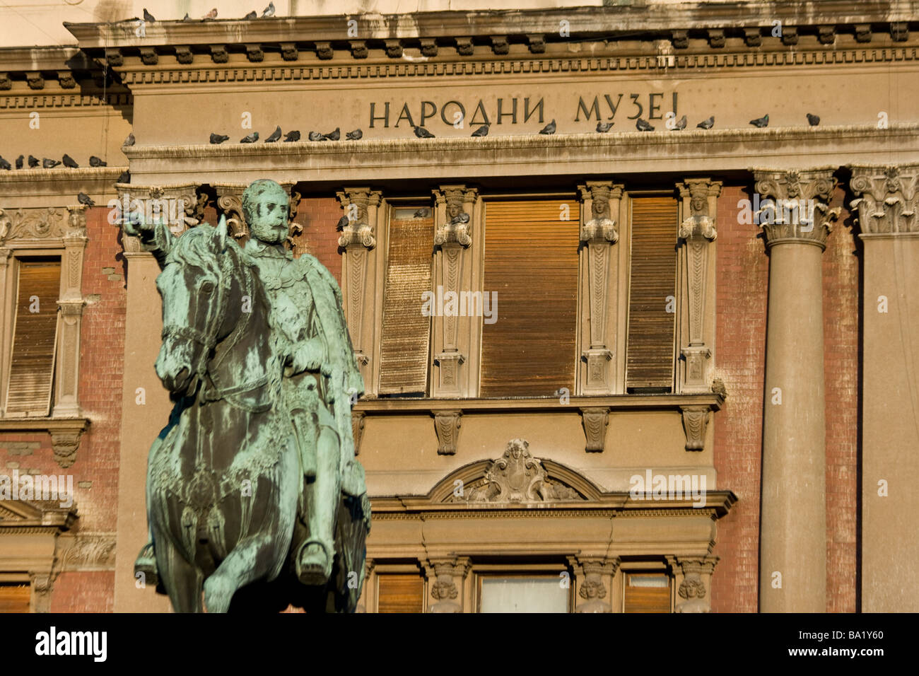
<path id="1" fill-rule="evenodd" d="M 431 318 L 421 314 L 421 294 L 431 291 L 434 219 L 413 218 L 414 211 L 393 209 L 390 220 L 380 336 L 381 395 L 427 390 Z"/>

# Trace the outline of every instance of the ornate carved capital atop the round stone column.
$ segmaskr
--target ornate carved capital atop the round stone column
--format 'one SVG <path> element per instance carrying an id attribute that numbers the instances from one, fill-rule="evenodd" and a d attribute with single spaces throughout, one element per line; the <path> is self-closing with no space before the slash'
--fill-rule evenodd
<path id="1" fill-rule="evenodd" d="M 831 223 L 840 209 L 829 202 L 837 181 L 835 168 L 752 169 L 755 179 L 754 223 L 766 235 L 766 246 L 812 244 L 826 248 Z"/>

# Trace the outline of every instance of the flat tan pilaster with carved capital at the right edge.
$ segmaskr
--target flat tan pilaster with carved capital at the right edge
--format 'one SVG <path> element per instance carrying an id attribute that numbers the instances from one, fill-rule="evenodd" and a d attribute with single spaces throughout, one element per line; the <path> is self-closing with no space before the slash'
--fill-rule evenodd
<path id="1" fill-rule="evenodd" d="M 919 166 L 853 166 L 864 244 L 862 610 L 919 612 Z"/>

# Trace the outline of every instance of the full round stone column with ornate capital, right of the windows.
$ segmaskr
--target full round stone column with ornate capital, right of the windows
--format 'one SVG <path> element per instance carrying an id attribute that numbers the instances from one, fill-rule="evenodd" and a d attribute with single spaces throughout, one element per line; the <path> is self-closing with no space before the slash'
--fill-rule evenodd
<path id="1" fill-rule="evenodd" d="M 754 177 L 770 258 L 759 607 L 764 613 L 823 613 L 821 258 L 835 215 L 827 208 L 833 170 L 756 170 Z"/>

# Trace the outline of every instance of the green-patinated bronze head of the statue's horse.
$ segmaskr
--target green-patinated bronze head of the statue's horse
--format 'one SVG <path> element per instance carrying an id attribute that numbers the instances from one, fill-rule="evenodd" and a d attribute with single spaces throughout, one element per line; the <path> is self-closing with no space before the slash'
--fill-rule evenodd
<path id="1" fill-rule="evenodd" d="M 234 281 L 239 247 L 226 223 L 201 226 L 176 239 L 156 278 L 163 296 L 163 346 L 156 374 L 176 394 L 192 394 L 194 376 L 207 371 L 211 350 L 240 318 L 241 287 Z"/>

